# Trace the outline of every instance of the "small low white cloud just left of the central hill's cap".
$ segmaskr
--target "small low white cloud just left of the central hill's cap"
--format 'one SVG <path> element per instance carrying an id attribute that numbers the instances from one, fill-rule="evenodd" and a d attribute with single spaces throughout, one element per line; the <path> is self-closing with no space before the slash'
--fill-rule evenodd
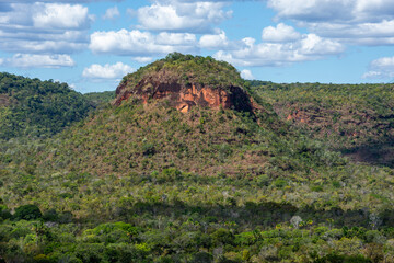
<path id="1" fill-rule="evenodd" d="M 104 66 L 93 64 L 89 68 L 83 69 L 82 76 L 90 79 L 117 79 L 134 71 L 134 68 L 123 62 L 106 64 Z"/>

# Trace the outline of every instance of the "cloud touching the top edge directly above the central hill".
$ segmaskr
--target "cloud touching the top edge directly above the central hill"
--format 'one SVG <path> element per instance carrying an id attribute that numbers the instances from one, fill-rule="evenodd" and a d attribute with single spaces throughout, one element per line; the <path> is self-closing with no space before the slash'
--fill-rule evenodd
<path id="1" fill-rule="evenodd" d="M 205 33 L 212 24 L 230 19 L 232 11 L 224 11 L 223 2 L 160 2 L 138 9 L 140 28 Z"/>

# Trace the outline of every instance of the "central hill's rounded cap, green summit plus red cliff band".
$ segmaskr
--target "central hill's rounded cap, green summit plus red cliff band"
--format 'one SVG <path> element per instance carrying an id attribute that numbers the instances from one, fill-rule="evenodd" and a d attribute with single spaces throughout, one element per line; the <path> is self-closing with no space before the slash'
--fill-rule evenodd
<path id="1" fill-rule="evenodd" d="M 144 104 L 165 99 L 181 112 L 196 105 L 253 112 L 258 106 L 242 84 L 235 68 L 227 62 L 174 53 L 126 76 L 116 89 L 115 104 L 131 96 Z"/>

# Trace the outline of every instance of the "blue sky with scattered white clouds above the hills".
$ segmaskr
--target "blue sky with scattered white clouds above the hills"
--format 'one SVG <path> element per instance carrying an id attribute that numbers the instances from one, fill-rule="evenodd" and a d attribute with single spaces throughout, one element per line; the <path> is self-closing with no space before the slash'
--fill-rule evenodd
<path id="1" fill-rule="evenodd" d="M 0 71 L 115 90 L 179 52 L 245 79 L 394 80 L 393 0 L 0 0 Z"/>

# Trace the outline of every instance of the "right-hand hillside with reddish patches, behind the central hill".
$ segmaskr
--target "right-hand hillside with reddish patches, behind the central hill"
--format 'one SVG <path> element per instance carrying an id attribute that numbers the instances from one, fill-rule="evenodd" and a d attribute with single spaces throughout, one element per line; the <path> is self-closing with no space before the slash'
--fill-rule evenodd
<path id="1" fill-rule="evenodd" d="M 356 161 L 394 165 L 393 84 L 277 84 L 252 89 L 282 119 Z"/>

